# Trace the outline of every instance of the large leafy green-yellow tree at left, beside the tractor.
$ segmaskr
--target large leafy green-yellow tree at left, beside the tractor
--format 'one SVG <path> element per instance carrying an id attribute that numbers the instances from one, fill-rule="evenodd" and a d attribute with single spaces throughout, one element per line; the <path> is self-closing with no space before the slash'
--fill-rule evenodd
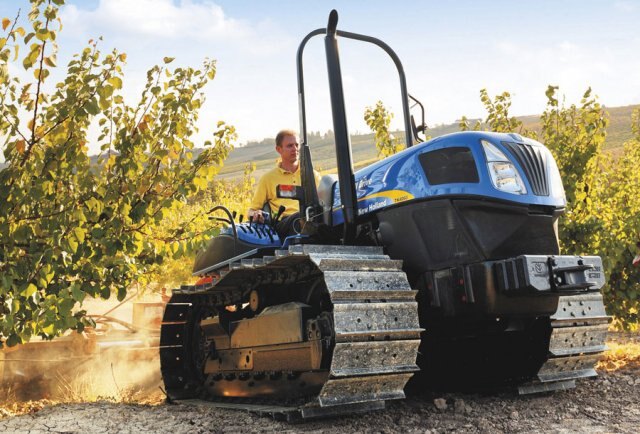
<path id="1" fill-rule="evenodd" d="M 218 123 L 193 159 L 203 87 L 215 62 L 201 69 L 155 66 L 140 101 L 121 94 L 124 53 L 102 54 L 90 41 L 56 68 L 61 0 L 32 0 L 31 29 L 3 20 L 0 39 L 0 338 L 14 345 L 53 338 L 88 321 L 76 303 L 87 296 L 123 299 L 132 281 L 166 257 L 187 255 L 207 240 L 204 217 L 185 213 L 206 189 L 235 138 Z M 23 82 L 9 72 L 19 61 Z M 15 64 L 14 64 L 15 65 Z M 89 130 L 97 124 L 101 156 L 91 165 Z M 170 216 L 185 218 L 170 219 Z"/>

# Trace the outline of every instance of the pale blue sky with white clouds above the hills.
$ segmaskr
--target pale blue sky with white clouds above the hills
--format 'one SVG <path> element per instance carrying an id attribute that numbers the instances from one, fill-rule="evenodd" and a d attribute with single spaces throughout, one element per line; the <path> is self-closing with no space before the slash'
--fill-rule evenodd
<path id="1" fill-rule="evenodd" d="M 18 9 L 26 16 L 28 1 L 0 0 L 1 16 Z M 163 57 L 175 57 L 172 66 L 216 59 L 196 143 L 224 120 L 243 144 L 299 129 L 296 51 L 307 33 L 326 27 L 331 9 L 339 30 L 395 50 L 431 126 L 485 117 L 483 88 L 510 92 L 513 115 L 541 113 L 549 84 L 567 104 L 588 87 L 605 106 L 640 103 L 640 0 L 68 0 L 58 64 L 102 36 L 103 52 L 127 53 L 124 91 L 134 104 L 146 71 Z M 378 100 L 402 128 L 391 60 L 358 41 L 339 40 L 339 49 L 351 133 L 369 131 L 364 110 Z M 332 125 L 322 37 L 307 44 L 304 67 L 308 128 L 324 132 Z"/>

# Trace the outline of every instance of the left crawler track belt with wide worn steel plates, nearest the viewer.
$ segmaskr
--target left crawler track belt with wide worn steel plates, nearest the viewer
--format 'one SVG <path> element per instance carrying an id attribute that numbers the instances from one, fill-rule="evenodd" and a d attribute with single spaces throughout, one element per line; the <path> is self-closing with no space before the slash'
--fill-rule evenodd
<path id="1" fill-rule="evenodd" d="M 287 420 L 369 411 L 383 408 L 386 400 L 404 398 L 404 386 L 418 370 L 422 330 L 416 291 L 401 267 L 382 248 L 297 245 L 274 256 L 231 263 L 211 284 L 174 290 L 160 343 L 169 398 L 205 397 Z M 250 291 L 262 285 L 302 285 L 310 279 L 322 279 L 331 303 L 331 359 L 325 372 L 249 372 L 242 378 L 197 372 L 204 362 L 198 354 L 206 354 L 197 344 L 199 318 L 246 302 Z M 283 406 L 282 398 L 267 403 L 256 399 L 260 390 L 286 394 L 308 387 L 311 393 L 314 384 L 319 392 L 304 402 Z M 252 399 L 225 399 L 221 391 L 231 385 L 238 395 Z"/>

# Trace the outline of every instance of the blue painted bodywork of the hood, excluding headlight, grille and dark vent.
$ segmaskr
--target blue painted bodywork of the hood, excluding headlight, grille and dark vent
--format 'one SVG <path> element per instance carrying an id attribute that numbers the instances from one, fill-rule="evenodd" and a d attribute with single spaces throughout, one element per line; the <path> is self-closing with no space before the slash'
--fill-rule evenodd
<path id="1" fill-rule="evenodd" d="M 493 186 L 490 178 L 487 159 L 481 141 L 485 140 L 501 150 L 518 170 L 524 180 L 527 194 L 513 194 L 498 190 Z M 358 215 L 366 216 L 399 203 L 435 199 L 450 196 L 473 196 L 491 198 L 501 201 L 515 202 L 526 205 L 545 205 L 562 208 L 566 205 L 564 193 L 537 196 L 532 193 L 532 186 L 525 175 L 524 169 L 503 142 L 526 143 L 535 146 L 546 155 L 547 160 L 553 160 L 551 153 L 544 145 L 517 134 L 491 133 L 469 131 L 441 136 L 425 143 L 414 145 L 391 157 L 379 161 L 355 173 L 356 195 L 358 198 Z M 450 183 L 430 185 L 419 161 L 423 153 L 450 147 L 467 147 L 471 150 L 478 171 L 479 181 L 475 183 Z M 554 165 L 555 166 L 555 165 Z M 546 176 L 549 176 L 547 171 Z M 334 185 L 332 221 L 333 225 L 344 222 L 340 188 Z"/>

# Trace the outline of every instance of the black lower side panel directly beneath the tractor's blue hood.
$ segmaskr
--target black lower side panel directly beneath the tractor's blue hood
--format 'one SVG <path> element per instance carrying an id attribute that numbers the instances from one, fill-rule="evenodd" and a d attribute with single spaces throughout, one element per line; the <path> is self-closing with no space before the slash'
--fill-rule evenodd
<path id="1" fill-rule="evenodd" d="M 561 210 L 479 199 L 414 202 L 377 214 L 380 242 L 410 272 L 520 255 L 558 255 Z"/>

